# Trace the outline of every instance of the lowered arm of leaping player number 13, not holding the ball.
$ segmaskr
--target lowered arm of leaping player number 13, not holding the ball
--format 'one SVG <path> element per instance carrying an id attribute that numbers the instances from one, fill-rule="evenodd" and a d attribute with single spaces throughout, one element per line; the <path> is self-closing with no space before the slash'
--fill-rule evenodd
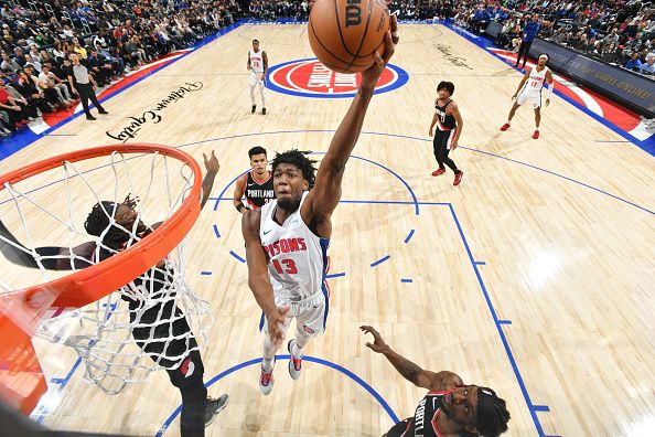
<path id="1" fill-rule="evenodd" d="M 248 286 L 259 308 L 268 320 L 268 332 L 276 345 L 282 344 L 284 333 L 280 324 L 284 323 L 289 307 L 278 308 L 275 301 L 270 279 L 268 278 L 266 253 L 259 239 L 260 210 L 248 211 L 241 218 L 241 232 L 246 241 L 246 262 L 248 263 Z"/>

